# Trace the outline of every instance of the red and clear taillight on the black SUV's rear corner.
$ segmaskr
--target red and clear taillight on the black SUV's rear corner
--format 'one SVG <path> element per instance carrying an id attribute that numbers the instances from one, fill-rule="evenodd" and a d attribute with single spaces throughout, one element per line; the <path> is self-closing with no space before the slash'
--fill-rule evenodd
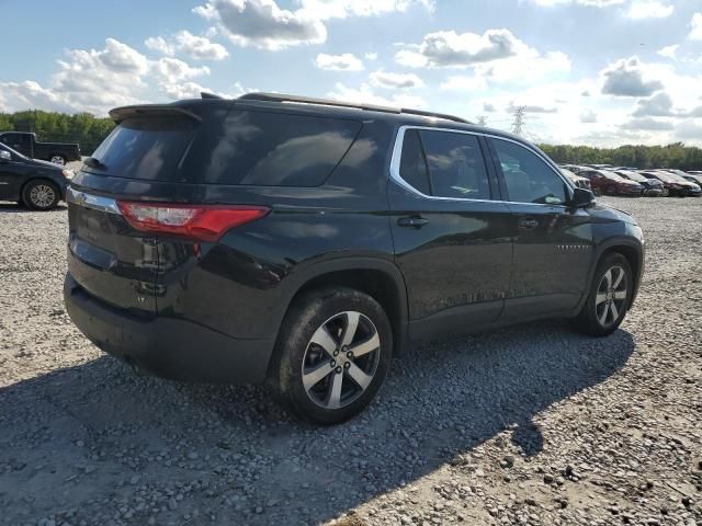
<path id="1" fill-rule="evenodd" d="M 129 225 L 143 232 L 183 236 L 205 242 L 219 240 L 230 228 L 265 216 L 263 206 L 178 205 L 117 202 Z"/>

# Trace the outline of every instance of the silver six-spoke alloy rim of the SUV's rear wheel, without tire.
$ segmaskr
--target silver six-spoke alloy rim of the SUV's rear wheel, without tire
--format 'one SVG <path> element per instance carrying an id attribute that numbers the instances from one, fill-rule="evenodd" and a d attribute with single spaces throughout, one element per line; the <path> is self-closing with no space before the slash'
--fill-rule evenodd
<path id="1" fill-rule="evenodd" d="M 315 331 L 305 350 L 305 392 L 320 408 L 344 408 L 369 388 L 380 357 L 381 339 L 369 317 L 356 311 L 335 315 Z"/>

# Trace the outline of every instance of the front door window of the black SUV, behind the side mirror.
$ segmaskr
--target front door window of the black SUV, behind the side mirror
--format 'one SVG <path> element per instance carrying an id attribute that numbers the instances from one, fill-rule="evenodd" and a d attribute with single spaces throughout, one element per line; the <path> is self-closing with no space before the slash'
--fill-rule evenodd
<path id="1" fill-rule="evenodd" d="M 492 144 L 510 201 L 550 205 L 566 202 L 566 183 L 543 159 L 514 142 L 495 139 Z"/>

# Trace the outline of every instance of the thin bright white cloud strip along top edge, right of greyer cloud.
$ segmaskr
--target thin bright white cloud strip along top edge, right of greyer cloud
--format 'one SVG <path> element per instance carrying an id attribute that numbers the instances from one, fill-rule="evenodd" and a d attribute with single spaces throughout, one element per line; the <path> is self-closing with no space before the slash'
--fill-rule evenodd
<path id="1" fill-rule="evenodd" d="M 434 9 L 433 0 L 299 0 L 301 14 L 312 19 L 346 19 L 347 16 L 377 16 L 404 12 L 412 5 Z"/>

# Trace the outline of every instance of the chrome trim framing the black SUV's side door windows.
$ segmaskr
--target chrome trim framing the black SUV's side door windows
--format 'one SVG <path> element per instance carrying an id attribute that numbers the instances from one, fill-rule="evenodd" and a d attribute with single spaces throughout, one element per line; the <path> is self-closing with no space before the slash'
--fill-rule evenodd
<path id="1" fill-rule="evenodd" d="M 409 184 L 407 181 L 405 181 L 399 174 L 399 165 L 400 165 L 401 158 L 403 158 L 403 145 L 405 142 L 405 132 L 407 132 L 408 129 L 420 129 L 420 130 L 428 130 L 428 132 L 448 132 L 448 133 L 451 133 L 451 134 L 473 135 L 473 136 L 476 136 L 476 137 L 489 137 L 491 139 L 505 140 L 507 142 L 513 142 L 514 145 L 522 147 L 526 151 L 530 151 L 531 153 L 534 153 L 542 161 L 544 161 L 544 163 L 558 176 L 558 179 L 561 179 L 561 181 L 563 181 L 566 184 L 566 186 L 568 188 L 573 190 L 573 185 L 566 179 L 566 176 L 563 175 L 563 173 L 561 173 L 559 170 L 557 170 L 556 168 L 553 167 L 553 161 L 550 161 L 540 151 L 534 150 L 532 148 L 529 148 L 525 145 L 523 145 L 522 142 L 519 142 L 518 140 L 513 140 L 513 139 L 510 139 L 508 137 L 500 137 L 499 135 L 486 134 L 484 132 L 469 132 L 467 129 L 453 129 L 453 128 L 437 128 L 437 127 L 433 127 L 433 126 L 403 125 L 397 130 L 397 135 L 395 137 L 395 146 L 393 147 L 393 156 L 390 158 L 390 179 L 393 181 L 395 181 L 397 184 L 399 184 L 401 187 L 404 187 L 405 190 L 407 190 L 407 191 L 409 191 L 409 192 L 411 192 L 411 193 L 414 193 L 414 194 L 416 194 L 416 195 L 418 195 L 420 197 L 423 197 L 426 199 L 431 199 L 431 201 L 450 201 L 450 202 L 458 202 L 458 203 L 503 203 L 503 204 L 510 204 L 511 203 L 511 204 L 532 205 L 532 206 L 550 206 L 550 207 L 559 206 L 562 208 L 567 208 L 566 204 L 563 204 L 563 205 L 550 205 L 550 204 L 546 204 L 546 203 L 522 203 L 522 202 L 519 202 L 519 201 L 500 201 L 500 199 L 471 199 L 471 198 L 466 198 L 466 197 L 441 197 L 441 196 L 437 196 L 437 195 L 427 195 L 427 194 L 418 191 L 417 188 L 415 188 L 411 184 Z M 487 159 L 485 159 L 485 162 L 487 162 Z"/>

